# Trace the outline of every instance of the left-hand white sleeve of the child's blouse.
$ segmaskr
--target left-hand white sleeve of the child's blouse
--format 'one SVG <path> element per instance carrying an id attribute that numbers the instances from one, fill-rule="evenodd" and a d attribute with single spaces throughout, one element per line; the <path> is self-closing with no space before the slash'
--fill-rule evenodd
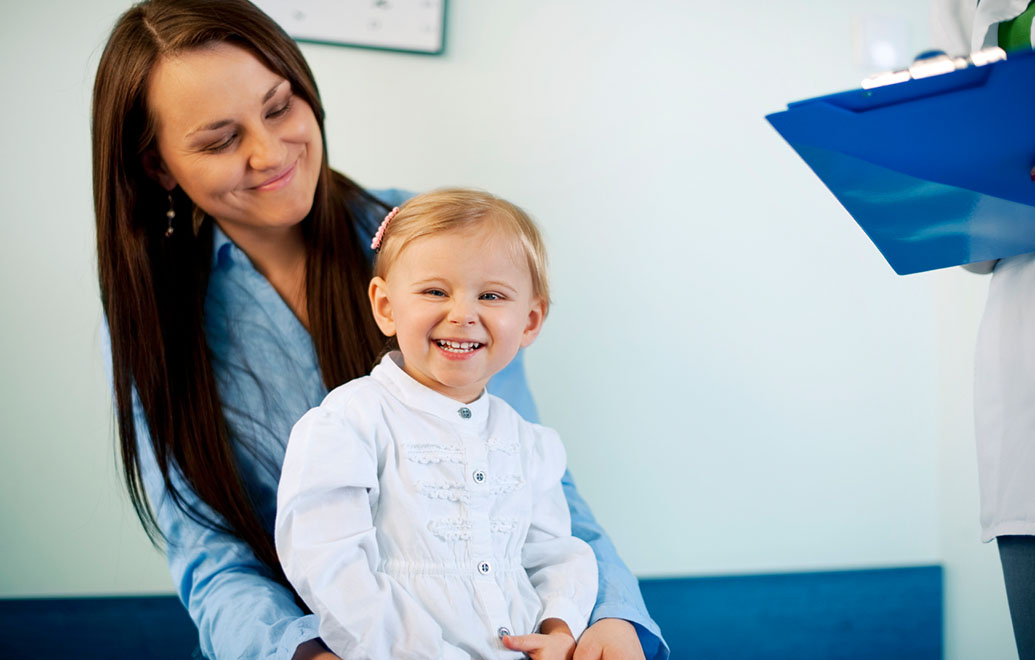
<path id="1" fill-rule="evenodd" d="M 380 563 L 373 439 L 317 408 L 291 432 L 277 491 L 276 548 L 288 579 L 320 618 L 324 643 L 350 660 L 468 660 Z"/>

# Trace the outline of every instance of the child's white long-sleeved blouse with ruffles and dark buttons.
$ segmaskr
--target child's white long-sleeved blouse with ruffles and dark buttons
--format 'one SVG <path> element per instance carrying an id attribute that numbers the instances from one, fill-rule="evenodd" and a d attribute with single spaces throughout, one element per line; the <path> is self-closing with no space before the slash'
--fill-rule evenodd
<path id="1" fill-rule="evenodd" d="M 347 660 L 522 658 L 503 634 L 578 638 L 596 560 L 571 536 L 564 448 L 487 393 L 463 404 L 392 353 L 295 425 L 277 492 L 284 570 Z"/>

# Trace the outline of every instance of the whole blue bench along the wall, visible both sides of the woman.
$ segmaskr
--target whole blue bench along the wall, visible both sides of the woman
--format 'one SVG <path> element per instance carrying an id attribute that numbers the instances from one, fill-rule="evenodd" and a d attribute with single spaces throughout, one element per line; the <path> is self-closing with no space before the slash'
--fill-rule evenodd
<path id="1" fill-rule="evenodd" d="M 938 660 L 938 566 L 641 580 L 673 660 Z M 172 596 L 0 600 L 0 658 L 188 660 Z"/>

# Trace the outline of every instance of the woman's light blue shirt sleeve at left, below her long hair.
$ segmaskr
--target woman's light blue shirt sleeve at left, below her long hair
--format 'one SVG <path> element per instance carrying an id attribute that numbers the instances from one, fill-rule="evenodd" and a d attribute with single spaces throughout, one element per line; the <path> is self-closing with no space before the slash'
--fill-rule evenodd
<path id="1" fill-rule="evenodd" d="M 111 379 L 107 324 L 101 340 Z M 202 653 L 211 660 L 290 660 L 299 644 L 318 636 L 317 618 L 303 616 L 294 595 L 269 576 L 247 544 L 199 523 L 173 502 L 155 461 L 136 392 L 134 420 L 144 488 L 166 538 L 173 586 L 198 627 Z M 188 508 L 218 519 L 175 470 L 171 477 Z"/>

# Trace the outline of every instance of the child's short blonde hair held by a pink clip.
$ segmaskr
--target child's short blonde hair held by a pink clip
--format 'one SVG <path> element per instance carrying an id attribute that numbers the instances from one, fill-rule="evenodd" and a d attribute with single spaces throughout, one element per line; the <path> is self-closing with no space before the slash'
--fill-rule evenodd
<path id="1" fill-rule="evenodd" d="M 489 223 L 521 245 L 532 275 L 532 295 L 539 298 L 543 311 L 550 308 L 546 249 L 539 229 L 521 208 L 483 190 L 440 188 L 418 194 L 398 207 L 381 235 L 374 274 L 385 277 L 407 245 L 422 236 L 459 232 Z"/>

